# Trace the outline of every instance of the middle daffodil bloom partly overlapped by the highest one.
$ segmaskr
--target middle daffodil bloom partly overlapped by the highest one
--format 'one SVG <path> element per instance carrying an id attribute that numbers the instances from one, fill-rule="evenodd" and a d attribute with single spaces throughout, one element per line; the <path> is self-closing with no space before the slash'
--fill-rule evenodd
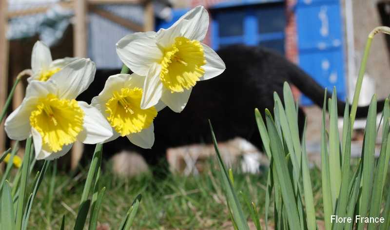
<path id="1" fill-rule="evenodd" d="M 91 105 L 106 117 L 113 136 L 126 136 L 133 144 L 148 149 L 155 141 L 153 119 L 165 107 L 162 102 L 141 109 L 144 78 L 137 74 L 117 74 L 108 77 L 103 90 L 92 99 Z"/>

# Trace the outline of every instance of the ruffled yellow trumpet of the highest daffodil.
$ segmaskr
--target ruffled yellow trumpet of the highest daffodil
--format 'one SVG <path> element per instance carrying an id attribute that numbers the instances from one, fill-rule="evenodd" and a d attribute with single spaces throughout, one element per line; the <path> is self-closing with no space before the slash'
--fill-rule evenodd
<path id="1" fill-rule="evenodd" d="M 183 92 L 195 86 L 204 75 L 202 66 L 205 64 L 203 46 L 199 41 L 177 37 L 172 47 L 164 51 L 160 79 L 171 93 Z"/>

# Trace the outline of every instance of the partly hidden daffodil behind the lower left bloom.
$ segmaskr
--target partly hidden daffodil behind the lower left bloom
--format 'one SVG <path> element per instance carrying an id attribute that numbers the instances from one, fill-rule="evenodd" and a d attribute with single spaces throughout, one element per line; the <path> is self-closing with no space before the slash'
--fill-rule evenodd
<path id="1" fill-rule="evenodd" d="M 79 58 L 61 58 L 53 61 L 49 47 L 43 42 L 37 41 L 34 44 L 31 55 L 31 69 L 33 75 L 27 80 L 28 82 L 32 80 L 47 81 L 64 66 L 77 59 Z"/>

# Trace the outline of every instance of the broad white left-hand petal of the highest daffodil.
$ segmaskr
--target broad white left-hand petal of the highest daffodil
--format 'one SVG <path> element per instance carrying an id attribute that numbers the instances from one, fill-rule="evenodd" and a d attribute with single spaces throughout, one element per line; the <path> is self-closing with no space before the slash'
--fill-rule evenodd
<path id="1" fill-rule="evenodd" d="M 117 43 L 117 55 L 134 73 L 146 76 L 153 63 L 159 62 L 162 52 L 156 44 L 156 32 L 137 32 Z"/>

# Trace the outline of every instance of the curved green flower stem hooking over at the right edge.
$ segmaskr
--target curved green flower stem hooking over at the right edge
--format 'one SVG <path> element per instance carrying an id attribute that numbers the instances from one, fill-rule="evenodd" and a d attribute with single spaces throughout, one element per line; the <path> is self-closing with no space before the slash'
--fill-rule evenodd
<path id="1" fill-rule="evenodd" d="M 379 32 L 382 32 L 385 34 L 390 34 L 390 28 L 386 27 L 386 26 L 376 27 L 375 29 L 373 29 L 370 32 L 370 34 L 367 38 L 366 47 L 364 49 L 364 54 L 363 54 L 363 59 L 362 59 L 362 62 L 360 64 L 359 75 L 358 75 L 357 81 L 356 81 L 355 92 L 353 94 L 351 114 L 350 114 L 351 115 L 351 127 L 353 127 L 353 122 L 355 121 L 355 117 L 356 117 L 357 102 L 359 100 L 360 90 L 362 88 L 363 76 L 364 76 L 364 73 L 366 72 L 367 59 L 368 59 L 369 53 L 370 53 L 372 38 L 374 38 L 374 36 L 376 34 L 378 34 Z M 351 129 L 351 131 L 352 130 L 353 129 Z"/>

